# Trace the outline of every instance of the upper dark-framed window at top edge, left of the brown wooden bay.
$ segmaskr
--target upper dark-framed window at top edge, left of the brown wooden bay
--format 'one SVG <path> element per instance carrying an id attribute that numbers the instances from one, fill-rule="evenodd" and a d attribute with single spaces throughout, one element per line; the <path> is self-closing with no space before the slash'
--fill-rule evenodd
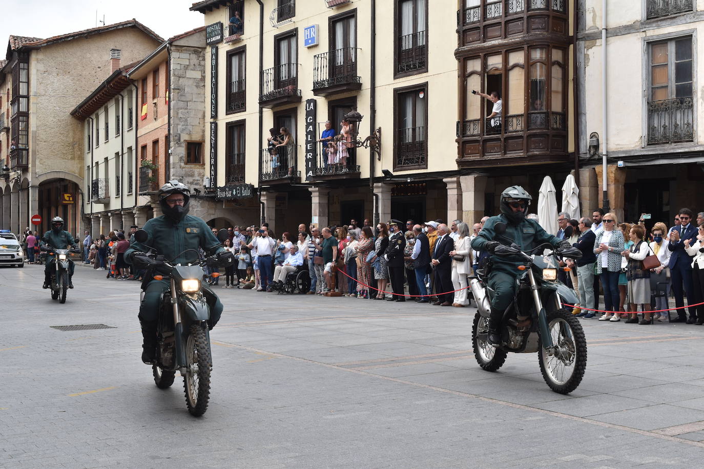
<path id="1" fill-rule="evenodd" d="M 427 0 L 396 0 L 396 77 L 427 71 Z"/>

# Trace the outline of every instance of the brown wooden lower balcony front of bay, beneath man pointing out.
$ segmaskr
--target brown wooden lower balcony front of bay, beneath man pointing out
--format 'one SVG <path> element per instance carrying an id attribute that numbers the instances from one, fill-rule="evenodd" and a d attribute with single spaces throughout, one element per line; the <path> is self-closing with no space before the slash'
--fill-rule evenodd
<path id="1" fill-rule="evenodd" d="M 458 122 L 457 127 L 460 168 L 567 161 L 564 113 L 531 111 L 507 115 L 497 127 L 484 119 Z"/>

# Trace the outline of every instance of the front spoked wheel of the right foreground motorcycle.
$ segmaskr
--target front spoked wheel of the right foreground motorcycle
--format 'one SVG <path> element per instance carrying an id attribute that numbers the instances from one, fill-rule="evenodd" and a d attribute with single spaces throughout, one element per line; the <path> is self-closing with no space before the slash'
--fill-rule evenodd
<path id="1" fill-rule="evenodd" d="M 548 311 L 553 348 L 541 347 L 538 356 L 543 379 L 551 390 L 568 394 L 579 386 L 586 368 L 586 338 L 579 319 L 567 311 Z"/>

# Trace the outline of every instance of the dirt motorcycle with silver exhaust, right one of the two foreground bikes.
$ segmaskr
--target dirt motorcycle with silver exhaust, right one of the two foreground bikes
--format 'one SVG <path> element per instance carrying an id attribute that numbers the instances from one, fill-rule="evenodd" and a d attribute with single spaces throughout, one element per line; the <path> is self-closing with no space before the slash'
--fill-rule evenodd
<path id="1" fill-rule="evenodd" d="M 489 271 L 477 271 L 470 279 L 470 287 L 477 302 L 477 314 L 472 323 L 472 349 L 477 363 L 486 371 L 497 371 L 503 366 L 508 352 L 538 352 L 543 380 L 554 392 L 569 394 L 582 382 L 586 368 L 586 338 L 579 320 L 567 311 L 564 304 L 577 304 L 579 299 L 572 288 L 557 280 L 560 260 L 558 255 L 579 259 L 577 248 L 551 251 L 547 255 L 534 252 L 553 250 L 546 243 L 523 252 L 513 240 L 503 235 L 505 225 L 495 226 L 497 238 L 510 245 L 496 248 L 494 255 L 522 259 L 513 302 L 504 311 L 501 320 L 501 344 L 491 345 L 489 315 L 491 297 L 487 279 Z M 566 268 L 565 268 L 566 270 Z"/>

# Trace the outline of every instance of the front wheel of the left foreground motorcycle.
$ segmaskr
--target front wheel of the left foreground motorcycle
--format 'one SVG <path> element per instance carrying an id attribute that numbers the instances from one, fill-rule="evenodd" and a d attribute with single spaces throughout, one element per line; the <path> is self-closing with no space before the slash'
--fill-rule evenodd
<path id="1" fill-rule="evenodd" d="M 198 417 L 206 413 L 210 397 L 210 347 L 201 323 L 191 324 L 186 341 L 186 375 L 183 387 L 188 411 Z"/>

